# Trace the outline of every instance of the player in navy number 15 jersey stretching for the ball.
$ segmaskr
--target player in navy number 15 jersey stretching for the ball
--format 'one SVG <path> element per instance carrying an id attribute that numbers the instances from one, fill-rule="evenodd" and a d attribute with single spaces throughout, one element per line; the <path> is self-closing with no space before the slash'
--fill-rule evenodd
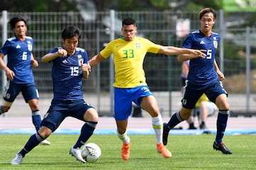
<path id="1" fill-rule="evenodd" d="M 80 147 L 91 137 L 98 121 L 97 111 L 84 101 L 82 93 L 82 79 L 89 77 L 90 67 L 87 65 L 87 52 L 78 47 L 79 29 L 73 26 L 65 28 L 61 37 L 63 47 L 55 47 L 42 57 L 42 62 L 53 62 L 51 106 L 43 118 L 40 130 L 31 135 L 11 164 L 21 164 L 23 157 L 54 132 L 68 116 L 85 122 L 77 142 L 70 148 L 70 154 L 85 163 Z"/>

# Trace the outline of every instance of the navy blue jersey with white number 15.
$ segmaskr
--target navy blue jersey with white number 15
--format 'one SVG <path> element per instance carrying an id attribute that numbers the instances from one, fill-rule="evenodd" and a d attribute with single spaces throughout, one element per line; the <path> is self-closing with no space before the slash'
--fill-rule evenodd
<path id="1" fill-rule="evenodd" d="M 57 52 L 57 47 L 48 54 Z M 53 62 L 53 100 L 58 101 L 78 101 L 82 96 L 82 70 L 81 63 L 88 61 L 87 52 L 77 47 L 74 55 L 67 57 L 56 57 Z"/>

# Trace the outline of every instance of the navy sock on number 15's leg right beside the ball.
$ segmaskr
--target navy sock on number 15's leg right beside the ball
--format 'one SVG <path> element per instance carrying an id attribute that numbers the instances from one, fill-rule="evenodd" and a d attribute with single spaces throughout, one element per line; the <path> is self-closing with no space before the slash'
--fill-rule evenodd
<path id="1" fill-rule="evenodd" d="M 75 143 L 74 148 L 82 147 L 82 145 L 84 145 L 85 142 L 89 140 L 96 128 L 96 125 L 97 122 L 86 122 L 84 125 L 82 125 L 80 137 Z"/>

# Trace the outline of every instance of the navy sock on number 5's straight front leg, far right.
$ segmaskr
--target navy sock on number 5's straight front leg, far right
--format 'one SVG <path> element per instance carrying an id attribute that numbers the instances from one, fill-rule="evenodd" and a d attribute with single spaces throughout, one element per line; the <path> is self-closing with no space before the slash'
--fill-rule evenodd
<path id="1" fill-rule="evenodd" d="M 218 113 L 217 118 L 217 133 L 216 133 L 216 142 L 220 143 L 222 142 L 225 128 L 227 127 L 228 122 L 228 111 L 220 111 Z"/>

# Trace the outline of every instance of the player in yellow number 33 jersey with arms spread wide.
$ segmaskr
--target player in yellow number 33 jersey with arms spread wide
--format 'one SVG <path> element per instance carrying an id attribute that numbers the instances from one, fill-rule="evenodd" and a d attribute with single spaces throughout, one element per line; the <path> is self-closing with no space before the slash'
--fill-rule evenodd
<path id="1" fill-rule="evenodd" d="M 171 152 L 162 142 L 163 120 L 159 113 L 156 98 L 146 84 L 143 61 L 146 52 L 164 55 L 191 54 L 201 55 L 200 50 L 156 45 L 140 37 L 135 37 L 137 27 L 134 18 L 122 21 L 122 37 L 112 40 L 99 54 L 89 61 L 93 67 L 114 55 L 114 118 L 117 123 L 117 136 L 122 140 L 122 159 L 129 159 L 130 138 L 127 136 L 129 115 L 132 114 L 132 101 L 151 115 L 156 135 L 156 148 L 164 157 L 171 157 Z"/>

